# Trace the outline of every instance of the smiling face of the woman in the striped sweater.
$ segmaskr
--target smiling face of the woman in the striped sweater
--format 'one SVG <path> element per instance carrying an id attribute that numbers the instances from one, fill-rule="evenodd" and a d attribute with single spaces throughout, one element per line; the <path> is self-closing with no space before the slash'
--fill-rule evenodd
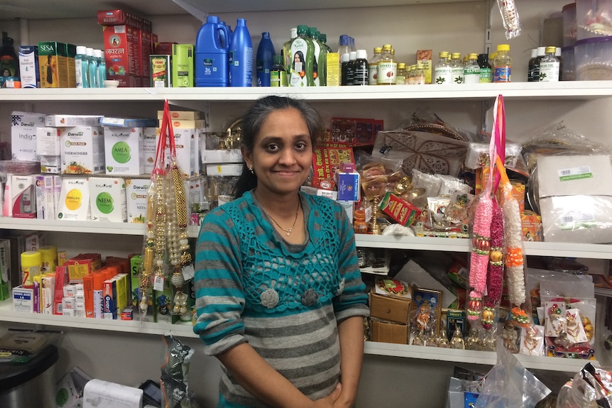
<path id="1" fill-rule="evenodd" d="M 245 156 L 257 175 L 258 194 L 285 195 L 300 189 L 310 174 L 312 141 L 306 121 L 297 109 L 274 111 Z"/>

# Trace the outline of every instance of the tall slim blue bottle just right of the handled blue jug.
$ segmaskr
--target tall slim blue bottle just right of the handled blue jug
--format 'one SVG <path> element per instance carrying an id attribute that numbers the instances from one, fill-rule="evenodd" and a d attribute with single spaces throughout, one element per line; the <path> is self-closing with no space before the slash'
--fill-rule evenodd
<path id="1" fill-rule="evenodd" d="M 229 50 L 229 86 L 251 87 L 253 84 L 253 44 L 246 19 L 236 21 Z"/>

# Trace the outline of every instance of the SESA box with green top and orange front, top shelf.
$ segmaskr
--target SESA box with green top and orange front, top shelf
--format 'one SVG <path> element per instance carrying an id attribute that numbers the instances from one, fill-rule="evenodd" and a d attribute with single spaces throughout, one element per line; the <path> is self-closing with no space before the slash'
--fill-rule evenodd
<path id="1" fill-rule="evenodd" d="M 38 43 L 38 70 L 41 88 L 70 88 L 68 55 L 65 43 Z M 72 69 L 75 65 L 72 64 Z"/>

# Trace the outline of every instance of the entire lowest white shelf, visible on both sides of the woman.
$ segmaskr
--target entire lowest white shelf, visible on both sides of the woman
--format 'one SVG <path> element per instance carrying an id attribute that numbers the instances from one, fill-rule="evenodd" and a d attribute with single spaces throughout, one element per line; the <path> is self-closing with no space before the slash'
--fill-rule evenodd
<path id="1" fill-rule="evenodd" d="M 0 321 L 36 324 L 41 326 L 69 327 L 86 330 L 117 331 L 124 333 L 173 335 L 185 338 L 197 338 L 191 322 L 178 324 L 146 323 L 139 321 L 87 319 L 84 317 L 55 316 L 49 314 L 20 313 L 12 310 L 12 302 L 0 302 Z M 496 353 L 489 351 L 454 350 L 452 348 L 435 348 L 409 346 L 405 344 L 377 343 L 366 341 L 364 353 L 371 355 L 389 355 L 392 357 L 419 358 L 421 360 L 450 361 L 454 363 L 474 363 L 494 365 Z M 525 368 L 538 370 L 566 371 L 575 373 L 586 363 L 585 360 L 569 358 L 534 357 L 516 354 Z M 591 363 L 598 363 L 591 361 Z"/>

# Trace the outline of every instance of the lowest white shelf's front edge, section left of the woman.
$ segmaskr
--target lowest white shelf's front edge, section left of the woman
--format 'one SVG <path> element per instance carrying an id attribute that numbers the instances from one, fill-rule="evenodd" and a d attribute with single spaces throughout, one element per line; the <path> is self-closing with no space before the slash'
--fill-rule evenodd
<path id="1" fill-rule="evenodd" d="M 146 321 L 126 321 L 109 319 L 87 319 L 85 317 L 57 316 L 53 314 L 23 313 L 13 311 L 13 302 L 0 302 L 0 321 L 39 324 L 43 326 L 70 327 L 75 329 L 92 329 L 104 331 L 121 331 L 137 334 L 173 335 L 179 337 L 194 337 L 191 322 L 177 324 L 152 323 Z"/>

